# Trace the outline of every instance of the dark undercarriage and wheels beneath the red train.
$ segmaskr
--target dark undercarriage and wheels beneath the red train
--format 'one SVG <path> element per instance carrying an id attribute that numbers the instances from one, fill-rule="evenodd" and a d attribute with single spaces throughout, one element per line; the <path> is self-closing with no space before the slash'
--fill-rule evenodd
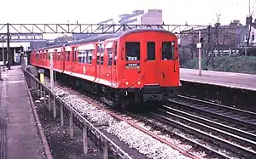
<path id="1" fill-rule="evenodd" d="M 45 71 L 49 77 L 49 70 Z M 55 72 L 55 79 L 60 82 L 94 94 L 103 103 L 111 107 L 126 109 L 137 105 L 166 104 L 167 99 L 176 98 L 177 88 L 160 88 L 158 86 L 145 86 L 144 88 L 109 88 L 102 84 L 97 84 L 79 77 L 71 77 L 66 74 Z"/>

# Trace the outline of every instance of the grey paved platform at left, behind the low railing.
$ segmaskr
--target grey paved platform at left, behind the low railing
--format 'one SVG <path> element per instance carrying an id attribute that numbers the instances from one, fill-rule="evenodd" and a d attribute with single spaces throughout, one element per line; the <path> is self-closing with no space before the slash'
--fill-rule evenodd
<path id="1" fill-rule="evenodd" d="M 11 70 L 2 73 L 0 158 L 47 158 L 21 66 L 11 66 Z"/>

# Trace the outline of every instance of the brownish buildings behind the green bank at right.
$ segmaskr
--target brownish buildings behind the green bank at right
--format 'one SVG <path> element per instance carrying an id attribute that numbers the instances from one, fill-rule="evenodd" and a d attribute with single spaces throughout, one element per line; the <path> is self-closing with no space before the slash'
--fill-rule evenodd
<path id="1" fill-rule="evenodd" d="M 256 21 L 256 20 L 255 20 Z M 190 29 L 181 31 L 180 50 L 181 54 L 193 58 L 198 56 L 198 49 L 196 43 L 199 43 L 198 32 L 201 31 L 203 37 L 203 53 L 207 54 L 241 54 L 244 52 L 243 48 L 247 47 L 247 36 L 249 32 L 249 20 L 247 17 L 247 24 L 243 26 L 239 20 L 232 20 L 229 25 L 221 25 L 220 23 L 214 26 L 208 26 L 202 29 Z M 252 23 L 251 38 L 249 45 L 255 43 L 256 23 Z"/>

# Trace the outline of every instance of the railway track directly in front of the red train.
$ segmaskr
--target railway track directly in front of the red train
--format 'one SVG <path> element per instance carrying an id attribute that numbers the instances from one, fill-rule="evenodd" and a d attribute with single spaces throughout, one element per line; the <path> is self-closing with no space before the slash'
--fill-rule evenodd
<path id="1" fill-rule="evenodd" d="M 195 123 L 191 124 L 192 121 L 188 122 L 189 119 L 183 116 L 175 114 L 170 116 L 170 113 L 166 111 L 159 111 L 158 113 L 148 112 L 144 114 L 144 116 L 137 116 L 131 113 L 129 114 L 129 116 L 136 118 L 137 121 L 146 123 L 146 125 L 153 129 L 152 131 L 156 128 L 161 133 L 166 133 L 172 136 L 172 138 L 179 139 L 182 141 L 183 145 L 191 145 L 189 150 L 187 150 L 190 153 L 198 154 L 199 151 L 204 151 L 204 158 L 240 158 L 241 156 L 243 158 L 255 157 L 255 152 L 253 152 L 253 150 L 246 149 L 240 145 L 235 145 L 230 142 L 230 140 L 225 140 L 215 136 L 213 133 L 207 133 L 209 130 L 199 128 L 199 126 L 203 127 L 201 123 L 197 122 L 198 125 L 195 126 Z M 169 114 L 169 116 L 164 116 L 163 114 Z M 209 129 L 218 131 L 216 128 Z M 226 134 L 225 137 L 230 137 L 228 135 L 229 134 Z M 233 137 L 232 134 L 230 135 Z M 236 137 L 234 138 L 236 139 Z M 238 139 L 240 138 L 238 137 Z M 253 145 L 253 143 L 247 143 L 245 145 Z"/>

